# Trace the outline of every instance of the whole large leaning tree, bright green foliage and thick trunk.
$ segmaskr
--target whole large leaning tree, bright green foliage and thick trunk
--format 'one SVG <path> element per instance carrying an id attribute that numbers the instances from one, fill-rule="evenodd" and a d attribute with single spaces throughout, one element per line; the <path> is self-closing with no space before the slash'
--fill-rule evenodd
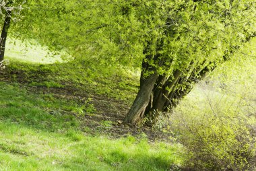
<path id="1" fill-rule="evenodd" d="M 255 0 L 30 0 L 26 5 L 13 35 L 65 50 L 79 63 L 141 67 L 128 123 L 145 115 L 154 120 L 172 109 L 193 83 L 255 36 Z"/>

